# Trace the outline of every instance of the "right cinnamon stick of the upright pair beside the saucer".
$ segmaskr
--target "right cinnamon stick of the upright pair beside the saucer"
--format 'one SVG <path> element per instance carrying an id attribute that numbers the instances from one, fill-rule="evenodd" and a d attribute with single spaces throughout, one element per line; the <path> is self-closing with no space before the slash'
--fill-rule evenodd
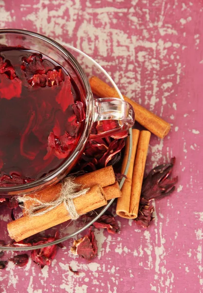
<path id="1" fill-rule="evenodd" d="M 130 210 L 132 210 L 133 214 L 136 215 L 136 217 L 139 209 L 140 194 L 142 189 L 150 136 L 151 133 L 149 131 L 141 131 L 135 157 L 135 164 L 132 176 Z"/>

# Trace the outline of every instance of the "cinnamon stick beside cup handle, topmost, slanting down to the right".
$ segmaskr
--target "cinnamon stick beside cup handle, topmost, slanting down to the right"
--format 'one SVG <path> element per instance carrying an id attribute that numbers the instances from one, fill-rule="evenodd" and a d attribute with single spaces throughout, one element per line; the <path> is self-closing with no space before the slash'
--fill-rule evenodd
<path id="1" fill-rule="evenodd" d="M 104 83 L 99 78 L 92 76 L 89 80 L 92 92 L 101 98 L 120 98 L 116 89 Z M 131 104 L 135 111 L 135 119 L 142 126 L 147 128 L 150 132 L 154 133 L 160 138 L 164 138 L 169 130 L 170 124 L 164 121 L 162 118 L 156 116 L 152 112 L 148 111 L 143 106 L 137 104 L 136 102 L 130 100 L 128 97 L 123 95 L 126 102 Z"/>

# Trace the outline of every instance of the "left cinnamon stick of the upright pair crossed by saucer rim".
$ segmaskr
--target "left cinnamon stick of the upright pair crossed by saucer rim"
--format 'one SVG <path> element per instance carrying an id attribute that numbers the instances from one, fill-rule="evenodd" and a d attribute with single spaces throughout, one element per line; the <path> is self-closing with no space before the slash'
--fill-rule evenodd
<path id="1" fill-rule="evenodd" d="M 136 217 L 136 214 L 133 213 L 133 209 L 131 209 L 131 201 L 133 201 L 133 198 L 131 197 L 131 188 L 132 188 L 133 167 L 134 167 L 135 154 L 136 154 L 139 136 L 140 136 L 140 131 L 137 129 L 132 129 L 132 153 L 130 157 L 129 170 L 128 170 L 127 178 L 124 181 L 123 187 L 121 188 L 122 196 L 118 198 L 117 206 L 116 206 L 116 214 L 120 217 L 127 218 L 127 219 L 134 219 Z M 125 148 L 121 173 L 125 171 L 128 157 L 129 157 L 129 137 L 127 137 L 127 141 L 126 141 L 126 148 Z"/>

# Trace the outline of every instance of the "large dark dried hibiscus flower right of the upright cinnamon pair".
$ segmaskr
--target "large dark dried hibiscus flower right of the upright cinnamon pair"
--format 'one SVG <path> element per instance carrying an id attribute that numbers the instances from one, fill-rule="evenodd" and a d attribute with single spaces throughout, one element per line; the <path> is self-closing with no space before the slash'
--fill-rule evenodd
<path id="1" fill-rule="evenodd" d="M 162 164 L 153 168 L 145 178 L 141 191 L 138 216 L 134 220 L 138 226 L 147 228 L 153 220 L 152 199 L 161 199 L 175 190 L 174 185 L 178 182 L 178 176 L 172 179 L 169 178 L 174 164 L 175 157 L 171 159 L 170 164 Z"/>

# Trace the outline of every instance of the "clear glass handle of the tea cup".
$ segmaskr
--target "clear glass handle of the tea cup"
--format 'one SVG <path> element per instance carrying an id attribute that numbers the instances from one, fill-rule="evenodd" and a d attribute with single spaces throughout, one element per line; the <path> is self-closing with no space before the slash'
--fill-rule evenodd
<path id="1" fill-rule="evenodd" d="M 94 123 L 90 139 L 114 136 L 128 130 L 135 122 L 133 107 L 118 98 L 94 99 Z M 115 136 L 116 137 L 116 136 Z"/>

